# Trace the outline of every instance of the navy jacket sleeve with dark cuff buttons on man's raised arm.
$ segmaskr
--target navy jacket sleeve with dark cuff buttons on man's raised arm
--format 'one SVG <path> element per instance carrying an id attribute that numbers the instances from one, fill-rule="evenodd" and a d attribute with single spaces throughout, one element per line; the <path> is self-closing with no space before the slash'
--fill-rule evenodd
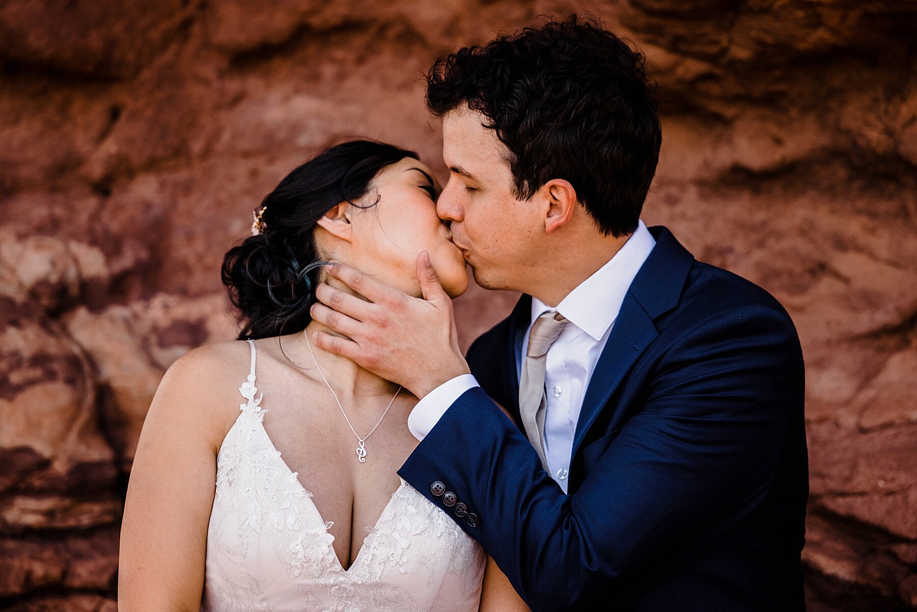
<path id="1" fill-rule="evenodd" d="M 768 493 L 794 410 L 801 351 L 790 318 L 764 306 L 679 335 L 644 409 L 592 442 L 572 495 L 480 388 L 461 395 L 399 473 L 437 506 L 438 481 L 478 517 L 456 518 L 539 610 L 613 601 L 661 560 L 746 517 Z M 590 449 L 586 449 L 589 451 Z M 579 568 L 563 571 L 558 568 Z"/>

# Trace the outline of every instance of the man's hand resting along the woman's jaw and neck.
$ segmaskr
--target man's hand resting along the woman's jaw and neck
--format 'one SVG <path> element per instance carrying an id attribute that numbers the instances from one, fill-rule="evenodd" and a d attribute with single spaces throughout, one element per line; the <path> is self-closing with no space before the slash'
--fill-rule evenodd
<path id="1" fill-rule="evenodd" d="M 452 300 L 439 284 L 426 251 L 417 257 L 423 298 L 407 295 L 342 263 L 330 264 L 327 270 L 369 301 L 318 284 L 312 317 L 347 338 L 318 331 L 312 338 L 317 346 L 403 384 L 417 397 L 470 372 L 458 348 Z"/>

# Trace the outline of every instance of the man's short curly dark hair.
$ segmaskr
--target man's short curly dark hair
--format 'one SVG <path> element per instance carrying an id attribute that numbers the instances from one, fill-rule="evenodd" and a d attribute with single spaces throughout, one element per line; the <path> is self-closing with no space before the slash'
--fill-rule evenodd
<path id="1" fill-rule="evenodd" d="M 468 105 L 509 150 L 515 196 L 569 181 L 605 235 L 636 229 L 662 132 L 645 58 L 593 17 L 460 49 L 426 74 L 426 106 Z"/>

